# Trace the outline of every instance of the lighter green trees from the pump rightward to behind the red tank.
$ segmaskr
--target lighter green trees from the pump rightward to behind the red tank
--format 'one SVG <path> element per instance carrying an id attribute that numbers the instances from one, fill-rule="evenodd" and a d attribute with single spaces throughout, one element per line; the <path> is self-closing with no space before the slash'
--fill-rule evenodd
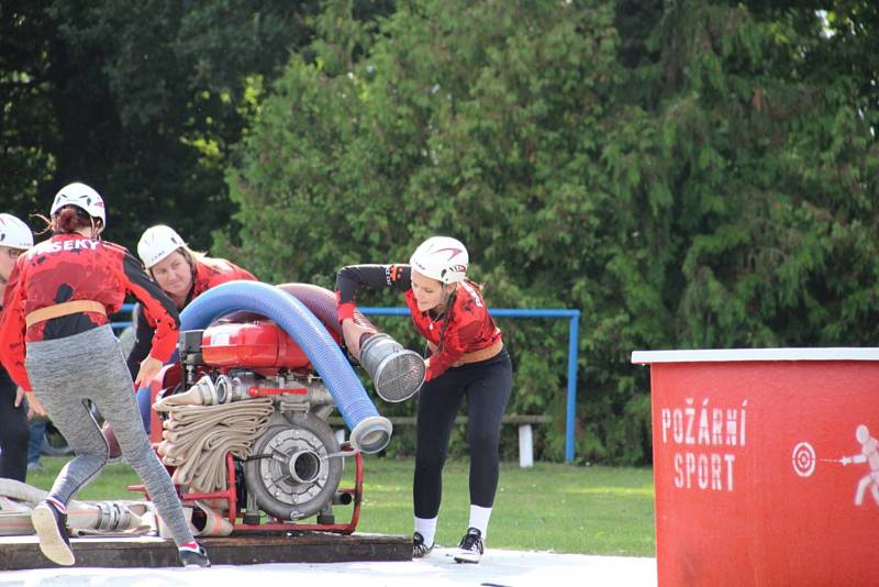
<path id="1" fill-rule="evenodd" d="M 632 350 L 875 339 L 876 69 L 852 64 L 876 10 L 845 4 L 827 37 L 814 10 L 774 7 L 425 0 L 378 29 L 334 12 L 229 175 L 243 251 L 329 286 L 461 237 L 493 306 L 582 310 L 580 458 L 647 462 Z M 501 325 L 511 411 L 554 414 L 559 457 L 566 324 Z"/>

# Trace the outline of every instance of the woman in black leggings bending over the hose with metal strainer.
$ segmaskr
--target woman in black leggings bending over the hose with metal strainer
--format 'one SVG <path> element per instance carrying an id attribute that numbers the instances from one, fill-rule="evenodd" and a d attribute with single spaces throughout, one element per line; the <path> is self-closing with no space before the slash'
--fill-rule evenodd
<path id="1" fill-rule="evenodd" d="M 336 276 L 338 319 L 345 342 L 359 355 L 354 322 L 360 286 L 405 292 L 415 329 L 427 341 L 427 375 L 419 392 L 413 499 L 414 557 L 431 553 L 442 496 L 442 473 L 455 417 L 468 403 L 470 523 L 455 561 L 478 563 L 483 552 L 498 487 L 501 418 L 512 390 L 512 366 L 500 330 L 482 292 L 467 279 L 467 248 L 455 239 L 433 236 L 415 250 L 409 265 L 351 265 Z"/>

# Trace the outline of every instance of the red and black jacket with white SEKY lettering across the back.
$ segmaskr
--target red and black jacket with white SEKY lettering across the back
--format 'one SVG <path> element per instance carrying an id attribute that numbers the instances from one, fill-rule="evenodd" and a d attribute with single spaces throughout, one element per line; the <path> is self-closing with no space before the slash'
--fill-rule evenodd
<path id="1" fill-rule="evenodd" d="M 74 300 L 103 303 L 110 315 L 122 307 L 126 292 L 155 317 L 152 355 L 167 361 L 177 344 L 177 309 L 125 247 L 79 234 L 56 234 L 21 255 L 7 285 L 0 320 L 0 358 L 9 374 L 30 390 L 24 368 L 25 341 L 63 339 L 109 323 L 101 313 L 80 312 L 25 329 L 25 315 Z"/>

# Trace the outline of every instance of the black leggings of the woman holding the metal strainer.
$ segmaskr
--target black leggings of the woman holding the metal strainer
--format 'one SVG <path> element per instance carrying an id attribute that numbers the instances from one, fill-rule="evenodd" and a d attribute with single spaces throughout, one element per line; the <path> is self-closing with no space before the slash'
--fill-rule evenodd
<path id="1" fill-rule="evenodd" d="M 435 518 L 439 512 L 448 439 L 465 396 L 469 409 L 470 503 L 482 508 L 494 503 L 501 418 L 512 388 L 513 368 L 507 350 L 479 363 L 452 367 L 421 388 L 412 489 L 418 518 Z"/>

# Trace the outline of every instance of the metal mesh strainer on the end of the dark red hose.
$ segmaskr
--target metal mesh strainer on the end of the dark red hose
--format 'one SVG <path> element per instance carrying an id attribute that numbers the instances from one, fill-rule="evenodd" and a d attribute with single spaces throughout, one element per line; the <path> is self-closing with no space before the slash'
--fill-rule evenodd
<path id="1" fill-rule="evenodd" d="M 360 365 L 372 378 L 376 391 L 385 401 L 404 401 L 421 389 L 427 369 L 424 359 L 383 333 L 365 337 L 360 345 Z"/>

